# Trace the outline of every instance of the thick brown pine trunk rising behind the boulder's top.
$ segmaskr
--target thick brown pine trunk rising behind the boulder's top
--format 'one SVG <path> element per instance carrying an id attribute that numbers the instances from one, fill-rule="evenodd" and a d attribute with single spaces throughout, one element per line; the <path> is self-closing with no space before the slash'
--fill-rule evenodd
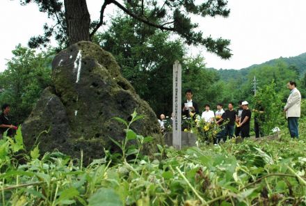
<path id="1" fill-rule="evenodd" d="M 86 0 L 65 0 L 64 4 L 69 45 L 89 41 L 90 15 Z"/>

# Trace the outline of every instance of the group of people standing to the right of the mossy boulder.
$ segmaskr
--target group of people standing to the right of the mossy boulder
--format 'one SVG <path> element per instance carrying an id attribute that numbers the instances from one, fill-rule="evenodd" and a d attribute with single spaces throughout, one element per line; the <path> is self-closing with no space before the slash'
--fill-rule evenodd
<path id="1" fill-rule="evenodd" d="M 289 132 L 292 138 L 298 138 L 298 118 L 300 118 L 300 102 L 301 95 L 296 88 L 295 81 L 289 81 L 287 88 L 290 90 L 290 94 L 287 100 L 286 106 L 284 106 L 284 112 L 287 116 Z M 182 116 L 187 118 L 194 118 L 191 114 L 198 114 L 198 104 L 193 101 L 192 90 L 186 90 L 186 101 L 182 104 Z M 241 138 L 250 137 L 250 120 L 252 118 L 252 111 L 249 108 L 248 101 L 241 100 L 238 102 L 238 109 L 234 109 L 234 103 L 229 102 L 227 109 L 223 109 L 223 104 L 217 104 L 216 112 L 211 110 L 209 104 L 204 105 L 204 111 L 201 114 L 202 120 L 207 123 L 216 122 L 220 127 L 220 132 L 217 134 L 217 141 L 235 136 L 241 136 Z M 264 122 L 264 107 L 261 102 L 258 101 L 255 104 L 254 116 L 255 116 L 255 136 L 258 138 L 264 136 L 264 132 L 261 129 L 261 124 Z M 161 114 L 161 129 L 164 129 L 165 116 Z"/>

